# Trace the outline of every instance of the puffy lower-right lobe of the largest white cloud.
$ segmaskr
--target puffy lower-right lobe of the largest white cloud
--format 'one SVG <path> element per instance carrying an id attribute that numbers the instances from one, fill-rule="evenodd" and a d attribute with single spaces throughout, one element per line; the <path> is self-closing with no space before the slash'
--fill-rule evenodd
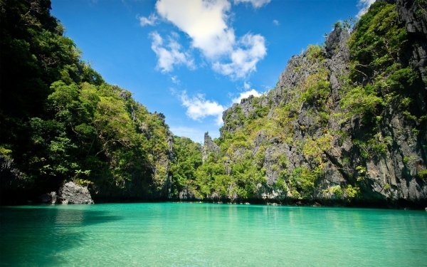
<path id="1" fill-rule="evenodd" d="M 239 43 L 241 47 L 231 52 L 231 62 L 221 63 L 216 61 L 214 70 L 223 75 L 229 75 L 231 78 L 244 78 L 256 70 L 256 63 L 267 54 L 264 37 L 259 34 L 252 35 L 247 33 Z"/>

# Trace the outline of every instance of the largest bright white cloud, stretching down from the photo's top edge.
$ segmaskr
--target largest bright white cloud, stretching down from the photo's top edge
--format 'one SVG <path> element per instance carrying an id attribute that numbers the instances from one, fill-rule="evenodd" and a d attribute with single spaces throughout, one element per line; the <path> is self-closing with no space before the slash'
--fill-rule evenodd
<path id="1" fill-rule="evenodd" d="M 251 4 L 268 1 L 251 1 Z M 243 78 L 256 70 L 266 55 L 265 38 L 247 33 L 236 38 L 228 26 L 231 4 L 227 0 L 158 0 L 157 13 L 174 23 L 191 38 L 191 46 L 199 49 L 213 63 L 218 73 Z"/>

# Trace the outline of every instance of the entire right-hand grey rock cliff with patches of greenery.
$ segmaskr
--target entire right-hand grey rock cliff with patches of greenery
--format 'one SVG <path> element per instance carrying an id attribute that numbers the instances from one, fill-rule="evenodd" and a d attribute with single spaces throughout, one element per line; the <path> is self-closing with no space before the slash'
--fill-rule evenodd
<path id="1" fill-rule="evenodd" d="M 226 110 L 216 153 L 238 178 L 225 195 L 243 188 L 238 198 L 426 204 L 427 19 L 421 5 L 379 1 L 352 34 L 337 24 L 324 46 L 292 57 L 267 95 Z M 391 25 L 377 27 L 373 18 Z M 383 46 L 399 46 L 376 51 L 368 33 Z M 397 33 L 404 37 L 389 36 Z M 206 151 L 210 143 L 205 140 Z M 239 186 L 245 172 L 236 166 L 245 162 L 264 177 L 246 180 L 251 189 Z M 218 194 L 213 191 L 206 197 Z"/>

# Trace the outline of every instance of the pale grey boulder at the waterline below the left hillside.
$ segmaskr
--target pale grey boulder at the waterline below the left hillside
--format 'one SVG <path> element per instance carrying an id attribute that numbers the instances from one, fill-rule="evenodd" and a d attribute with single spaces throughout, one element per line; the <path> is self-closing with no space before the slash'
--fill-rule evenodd
<path id="1" fill-rule="evenodd" d="M 61 204 L 93 204 L 88 188 L 74 182 L 68 182 L 60 187 L 58 202 Z"/>

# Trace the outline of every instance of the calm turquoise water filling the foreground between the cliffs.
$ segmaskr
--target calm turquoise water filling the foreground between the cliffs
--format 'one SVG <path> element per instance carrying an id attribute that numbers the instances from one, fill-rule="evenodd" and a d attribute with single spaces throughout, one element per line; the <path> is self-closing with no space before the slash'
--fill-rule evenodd
<path id="1" fill-rule="evenodd" d="M 1 266 L 427 266 L 427 212 L 226 204 L 0 209 Z"/>

